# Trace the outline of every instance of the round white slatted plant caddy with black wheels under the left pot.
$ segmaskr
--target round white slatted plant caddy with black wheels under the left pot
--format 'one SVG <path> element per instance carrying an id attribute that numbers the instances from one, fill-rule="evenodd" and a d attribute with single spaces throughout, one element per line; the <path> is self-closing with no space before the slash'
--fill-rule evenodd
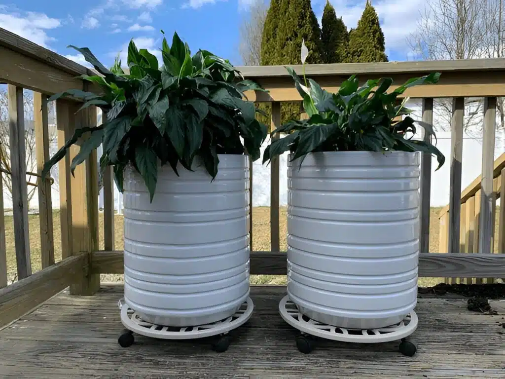
<path id="1" fill-rule="evenodd" d="M 228 350 L 231 342 L 228 332 L 247 321 L 254 309 L 254 304 L 248 297 L 233 315 L 223 320 L 197 326 L 166 326 L 142 320 L 137 312 L 130 309 L 124 303 L 124 299 L 119 301 L 118 306 L 121 310 L 121 322 L 125 327 L 118 339 L 121 347 L 126 348 L 133 345 L 135 342 L 133 333 L 162 340 L 191 340 L 217 337 L 212 343 L 212 349 L 218 353 Z"/>

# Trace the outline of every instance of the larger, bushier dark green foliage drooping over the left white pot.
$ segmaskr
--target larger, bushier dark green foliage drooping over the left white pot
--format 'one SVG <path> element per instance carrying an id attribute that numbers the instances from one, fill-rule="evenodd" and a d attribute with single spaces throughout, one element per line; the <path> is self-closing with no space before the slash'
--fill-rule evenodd
<path id="1" fill-rule="evenodd" d="M 69 95 L 81 98 L 85 101 L 82 108 L 102 107 L 107 121 L 96 128 L 77 129 L 45 164 L 42 176 L 84 132 L 91 136 L 73 159 L 72 170 L 103 144 L 102 172 L 106 166 L 114 166 L 116 183 L 123 191 L 123 170 L 131 164 L 142 175 L 151 201 L 159 162 L 169 163 L 177 173 L 178 163 L 191 169 L 198 158 L 214 178 L 218 154 L 244 154 L 246 149 L 253 160 L 260 158 L 267 128 L 256 120 L 254 103 L 242 99 L 245 90 L 262 88 L 243 80 L 228 61 L 205 50 L 191 57 L 189 46 L 177 33 L 171 47 L 163 38 L 161 69 L 157 58 L 145 49 L 138 50 L 133 40 L 128 46 L 129 74 L 118 59 L 108 70 L 87 48 L 75 49 L 102 75 L 83 75 L 82 79 L 97 83 L 104 93 L 71 90 L 48 101 Z"/>

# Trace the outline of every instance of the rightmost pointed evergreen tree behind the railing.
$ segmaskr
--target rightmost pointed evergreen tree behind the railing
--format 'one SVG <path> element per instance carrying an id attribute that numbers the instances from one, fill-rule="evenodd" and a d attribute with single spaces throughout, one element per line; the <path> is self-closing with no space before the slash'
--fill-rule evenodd
<path id="1" fill-rule="evenodd" d="M 375 8 L 367 0 L 358 27 L 349 35 L 349 62 L 387 62 L 384 33 Z"/>

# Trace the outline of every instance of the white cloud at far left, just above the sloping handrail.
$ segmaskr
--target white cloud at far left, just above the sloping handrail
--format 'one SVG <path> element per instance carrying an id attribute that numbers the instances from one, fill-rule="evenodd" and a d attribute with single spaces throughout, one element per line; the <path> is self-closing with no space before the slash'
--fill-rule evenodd
<path id="1" fill-rule="evenodd" d="M 61 25 L 61 21 L 48 17 L 44 13 L 27 12 L 24 16 L 19 13 L 8 13 L 7 7 L 0 9 L 0 28 L 9 30 L 23 38 L 26 38 L 44 48 L 55 38 L 47 35 L 46 30 L 55 29 Z"/>

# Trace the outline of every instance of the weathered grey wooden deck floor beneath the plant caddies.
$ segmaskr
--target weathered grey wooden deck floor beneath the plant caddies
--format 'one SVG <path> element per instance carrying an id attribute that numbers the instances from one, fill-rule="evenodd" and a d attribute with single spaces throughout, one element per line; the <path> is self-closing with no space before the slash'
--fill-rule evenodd
<path id="1" fill-rule="evenodd" d="M 219 354 L 209 341 L 137 335 L 121 348 L 122 292 L 122 285 L 103 285 L 91 297 L 65 290 L 1 330 L 0 377 L 505 377 L 505 301 L 490 301 L 498 313 L 490 315 L 468 311 L 466 299 L 454 295 L 420 298 L 413 358 L 398 353 L 398 342 L 318 340 L 305 355 L 278 313 L 285 288 L 253 287 L 255 313 Z"/>

